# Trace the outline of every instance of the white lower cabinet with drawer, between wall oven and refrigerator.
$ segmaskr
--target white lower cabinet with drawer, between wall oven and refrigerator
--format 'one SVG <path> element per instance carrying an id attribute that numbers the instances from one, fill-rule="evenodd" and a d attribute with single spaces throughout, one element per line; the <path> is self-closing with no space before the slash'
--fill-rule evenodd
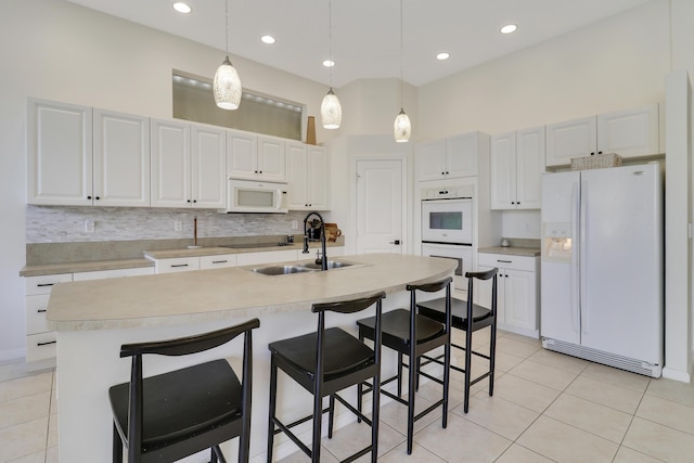
<path id="1" fill-rule="evenodd" d="M 497 310 L 500 330 L 525 336 L 540 335 L 540 258 L 479 253 L 480 271 L 497 267 Z M 488 307 L 491 285 L 479 285 L 476 303 Z"/>

